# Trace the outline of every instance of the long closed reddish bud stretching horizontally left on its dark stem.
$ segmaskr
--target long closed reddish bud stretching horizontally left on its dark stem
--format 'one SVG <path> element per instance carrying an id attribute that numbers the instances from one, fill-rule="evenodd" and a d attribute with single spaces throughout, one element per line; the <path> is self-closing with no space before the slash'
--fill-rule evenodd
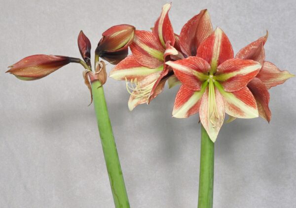
<path id="1" fill-rule="evenodd" d="M 41 79 L 70 62 L 78 63 L 79 61 L 80 59 L 64 56 L 33 55 L 9 66 L 9 70 L 6 72 L 13 74 L 18 79 L 31 81 Z"/>

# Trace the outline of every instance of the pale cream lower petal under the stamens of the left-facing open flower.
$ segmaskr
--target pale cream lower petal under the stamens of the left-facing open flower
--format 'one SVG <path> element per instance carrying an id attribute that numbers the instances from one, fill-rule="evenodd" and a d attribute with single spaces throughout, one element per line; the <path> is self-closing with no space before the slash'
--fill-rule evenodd
<path id="1" fill-rule="evenodd" d="M 132 111 L 137 105 L 148 103 L 150 92 L 161 72 L 148 75 L 141 82 L 136 83 L 136 88 L 131 92 L 128 108 Z M 160 93 L 160 92 L 159 92 Z"/>

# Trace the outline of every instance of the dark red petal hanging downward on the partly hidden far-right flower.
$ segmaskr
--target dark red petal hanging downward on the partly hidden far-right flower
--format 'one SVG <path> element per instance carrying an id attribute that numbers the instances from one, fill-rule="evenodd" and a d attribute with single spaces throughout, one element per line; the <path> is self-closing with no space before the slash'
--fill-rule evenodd
<path id="1" fill-rule="evenodd" d="M 265 85 L 261 82 L 261 80 L 255 77 L 251 80 L 247 87 L 251 90 L 256 99 L 259 116 L 269 122 L 271 119 L 271 112 L 268 107 L 270 96 Z"/>

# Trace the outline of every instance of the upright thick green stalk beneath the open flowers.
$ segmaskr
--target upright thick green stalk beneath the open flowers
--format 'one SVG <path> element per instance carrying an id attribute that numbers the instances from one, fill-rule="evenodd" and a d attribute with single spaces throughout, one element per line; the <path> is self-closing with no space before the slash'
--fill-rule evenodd
<path id="1" fill-rule="evenodd" d="M 198 208 L 213 208 L 214 143 L 201 125 Z"/>

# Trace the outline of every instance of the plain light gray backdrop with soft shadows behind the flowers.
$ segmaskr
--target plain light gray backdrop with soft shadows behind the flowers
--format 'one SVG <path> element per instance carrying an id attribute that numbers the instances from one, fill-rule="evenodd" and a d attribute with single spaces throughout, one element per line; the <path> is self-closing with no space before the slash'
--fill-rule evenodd
<path id="1" fill-rule="evenodd" d="M 79 57 L 82 29 L 93 50 L 117 24 L 149 30 L 164 0 L 0 0 L 0 208 L 112 208 L 82 68 L 69 64 L 23 82 L 6 67 L 33 54 Z M 234 51 L 268 29 L 266 59 L 296 74 L 295 0 L 174 0 L 174 30 L 208 8 Z M 108 70 L 111 69 L 108 65 Z M 215 208 L 296 207 L 296 79 L 270 90 L 272 120 L 224 124 L 215 143 Z M 104 86 L 132 208 L 195 208 L 198 116 L 171 118 L 178 87 L 129 112 L 125 83 Z"/>

